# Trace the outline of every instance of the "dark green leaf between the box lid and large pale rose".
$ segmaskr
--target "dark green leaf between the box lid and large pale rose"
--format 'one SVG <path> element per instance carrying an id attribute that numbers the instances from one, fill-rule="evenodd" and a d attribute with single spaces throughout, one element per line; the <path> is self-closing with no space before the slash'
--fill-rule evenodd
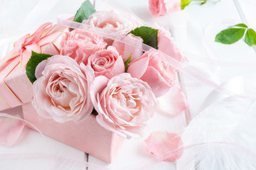
<path id="1" fill-rule="evenodd" d="M 38 64 L 52 56 L 53 55 L 41 54 L 32 51 L 31 58 L 28 60 L 28 63 L 26 64 L 26 74 L 32 84 L 34 81 L 36 81 L 35 72 Z"/>

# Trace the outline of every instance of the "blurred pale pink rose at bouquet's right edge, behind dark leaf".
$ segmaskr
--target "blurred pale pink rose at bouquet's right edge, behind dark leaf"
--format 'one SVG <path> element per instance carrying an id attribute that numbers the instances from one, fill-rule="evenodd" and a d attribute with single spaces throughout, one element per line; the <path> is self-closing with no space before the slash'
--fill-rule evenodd
<path id="1" fill-rule="evenodd" d="M 179 62 L 186 61 L 186 59 L 181 55 L 181 52 L 178 50 L 174 38 L 171 37 L 170 31 L 160 27 L 156 23 L 154 24 L 154 28 L 159 30 L 157 34 L 158 49 Z"/>

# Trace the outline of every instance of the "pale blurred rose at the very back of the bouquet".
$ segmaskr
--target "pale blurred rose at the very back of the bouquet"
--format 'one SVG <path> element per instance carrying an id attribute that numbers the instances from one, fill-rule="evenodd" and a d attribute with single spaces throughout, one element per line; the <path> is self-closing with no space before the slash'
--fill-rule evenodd
<path id="1" fill-rule="evenodd" d="M 96 11 L 83 23 L 103 28 L 105 31 L 111 31 L 119 35 L 127 34 L 142 25 L 132 15 L 124 15 L 115 11 Z"/>

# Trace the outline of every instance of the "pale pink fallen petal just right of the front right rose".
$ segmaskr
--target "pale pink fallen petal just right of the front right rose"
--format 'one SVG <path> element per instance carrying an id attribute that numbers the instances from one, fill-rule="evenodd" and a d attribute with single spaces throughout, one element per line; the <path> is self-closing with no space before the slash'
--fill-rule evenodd
<path id="1" fill-rule="evenodd" d="M 178 84 L 172 86 L 164 96 L 157 99 L 159 101 L 159 109 L 170 115 L 181 113 L 188 108 L 188 100 Z"/>

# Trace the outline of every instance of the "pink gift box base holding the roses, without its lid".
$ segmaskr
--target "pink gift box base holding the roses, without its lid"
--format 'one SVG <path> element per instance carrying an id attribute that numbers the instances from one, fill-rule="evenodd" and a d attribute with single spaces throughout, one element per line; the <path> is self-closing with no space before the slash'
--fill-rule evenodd
<path id="1" fill-rule="evenodd" d="M 38 115 L 31 103 L 23 104 L 22 108 L 24 120 L 35 125 L 44 135 L 80 149 L 107 163 L 112 162 L 124 142 L 124 138 L 102 128 L 97 123 L 95 115 L 91 114 L 81 123 L 73 121 L 57 123 Z"/>

